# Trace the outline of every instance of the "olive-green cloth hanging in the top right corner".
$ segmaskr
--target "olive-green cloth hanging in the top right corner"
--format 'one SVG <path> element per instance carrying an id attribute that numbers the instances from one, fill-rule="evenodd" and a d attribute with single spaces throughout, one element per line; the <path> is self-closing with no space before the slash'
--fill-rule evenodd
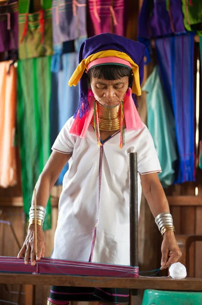
<path id="1" fill-rule="evenodd" d="M 182 0 L 182 12 L 187 31 L 196 31 L 197 35 L 202 35 L 202 1 Z"/>

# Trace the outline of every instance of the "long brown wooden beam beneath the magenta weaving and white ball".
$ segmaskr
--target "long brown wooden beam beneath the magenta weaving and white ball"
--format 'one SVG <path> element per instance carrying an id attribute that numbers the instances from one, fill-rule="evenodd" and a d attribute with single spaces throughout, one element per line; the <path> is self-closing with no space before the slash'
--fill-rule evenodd
<path id="1" fill-rule="evenodd" d="M 0 284 L 202 291 L 202 279 L 185 278 L 183 280 L 174 280 L 170 277 L 140 277 L 136 279 L 128 279 L 0 273 Z"/>

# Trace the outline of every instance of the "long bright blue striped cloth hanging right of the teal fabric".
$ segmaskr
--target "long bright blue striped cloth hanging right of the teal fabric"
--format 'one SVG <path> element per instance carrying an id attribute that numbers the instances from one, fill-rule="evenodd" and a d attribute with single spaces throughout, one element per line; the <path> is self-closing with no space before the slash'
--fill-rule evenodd
<path id="1" fill-rule="evenodd" d="M 194 37 L 182 35 L 159 38 L 155 44 L 161 76 L 175 116 L 179 154 L 175 183 L 194 181 Z"/>

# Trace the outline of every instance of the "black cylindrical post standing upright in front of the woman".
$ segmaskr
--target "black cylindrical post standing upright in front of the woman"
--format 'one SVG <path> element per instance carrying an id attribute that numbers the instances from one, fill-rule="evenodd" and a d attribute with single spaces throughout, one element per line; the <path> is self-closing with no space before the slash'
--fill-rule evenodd
<path id="1" fill-rule="evenodd" d="M 137 153 L 129 154 L 130 265 L 138 267 L 138 166 Z"/>

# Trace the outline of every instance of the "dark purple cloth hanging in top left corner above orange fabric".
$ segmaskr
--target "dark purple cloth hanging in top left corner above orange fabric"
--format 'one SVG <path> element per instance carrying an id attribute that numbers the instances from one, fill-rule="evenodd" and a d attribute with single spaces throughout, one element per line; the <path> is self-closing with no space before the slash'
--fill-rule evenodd
<path id="1" fill-rule="evenodd" d="M 18 48 L 18 3 L 0 6 L 0 52 Z"/>

